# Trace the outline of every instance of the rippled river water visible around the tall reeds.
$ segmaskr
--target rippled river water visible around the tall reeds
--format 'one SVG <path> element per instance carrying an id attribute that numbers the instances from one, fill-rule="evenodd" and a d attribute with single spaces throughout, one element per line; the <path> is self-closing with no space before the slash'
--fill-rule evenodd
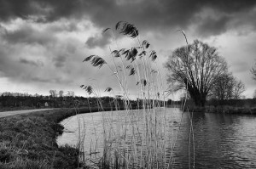
<path id="1" fill-rule="evenodd" d="M 112 120 L 117 121 L 115 116 L 117 113 L 125 115 L 124 111 L 104 112 L 104 115 L 109 115 Z M 137 111 L 137 114 L 140 112 Z M 189 168 L 189 161 L 193 168 L 194 154 L 192 135 L 189 134 L 191 133 L 189 114 L 169 108 L 166 109 L 166 119 L 168 143 L 170 143 L 169 148 L 166 146 L 166 152 L 169 154 L 171 154 L 172 143 L 177 136 L 173 153 L 173 168 Z M 195 168 L 256 168 L 256 116 L 194 113 L 192 120 Z M 84 134 L 85 151 L 89 152 L 91 149 L 95 152 L 102 151 L 101 112 L 72 116 L 61 121 L 61 124 L 66 132 L 58 138 L 58 144 L 75 145 L 78 143 L 79 136 Z"/>

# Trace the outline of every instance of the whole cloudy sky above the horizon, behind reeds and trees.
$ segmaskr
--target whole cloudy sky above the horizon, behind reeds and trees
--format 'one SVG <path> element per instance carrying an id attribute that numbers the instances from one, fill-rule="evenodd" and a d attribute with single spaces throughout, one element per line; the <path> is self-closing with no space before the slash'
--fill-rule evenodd
<path id="1" fill-rule="evenodd" d="M 245 84 L 243 95 L 252 98 L 255 16 L 255 0 L 0 0 L 0 93 L 49 95 L 55 89 L 86 96 L 81 84 L 119 93 L 108 67 L 98 69 L 83 60 L 97 54 L 111 62 L 111 50 L 135 45 L 129 37 L 102 33 L 124 20 L 136 25 L 140 38 L 156 51 L 164 84 L 163 64 L 186 44 L 176 31 L 182 29 L 189 43 L 199 39 L 218 48 Z"/>

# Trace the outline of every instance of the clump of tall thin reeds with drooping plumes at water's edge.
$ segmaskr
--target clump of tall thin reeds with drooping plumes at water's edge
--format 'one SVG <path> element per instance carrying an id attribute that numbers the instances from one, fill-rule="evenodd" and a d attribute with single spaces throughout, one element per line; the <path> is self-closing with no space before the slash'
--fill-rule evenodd
<path id="1" fill-rule="evenodd" d="M 88 160 L 91 167 L 99 168 L 170 168 L 175 143 L 172 143 L 170 155 L 166 152 L 166 146 L 170 144 L 167 140 L 166 92 L 157 54 L 154 50 L 150 50 L 147 40 L 141 41 L 135 25 L 119 21 L 113 29 L 107 28 L 103 32 L 108 31 L 112 33 L 116 42 L 116 49 L 112 50 L 109 47 L 112 63 L 109 64 L 106 59 L 98 55 L 90 55 L 84 59 L 84 62 L 90 62 L 91 65 L 99 68 L 103 65 L 108 66 L 110 74 L 119 84 L 125 114 L 114 112 L 105 115 L 101 97 L 94 87 L 81 85 L 88 94 L 96 97 L 99 110 L 102 110 L 103 126 L 102 154 L 97 153 L 96 143 L 92 145 L 95 146 L 93 152 L 90 147 L 90 158 L 83 157 L 83 159 L 85 162 Z M 131 37 L 137 45 L 129 49 L 119 48 L 114 36 L 115 32 Z M 132 96 L 129 90 L 131 82 L 134 82 L 133 87 L 137 88 L 137 109 L 131 104 Z M 114 93 L 112 87 L 107 87 L 105 92 Z M 113 99 L 113 103 L 115 110 L 119 110 L 118 100 Z M 143 113 L 138 113 L 138 110 Z M 192 120 L 190 121 L 192 123 Z M 192 126 L 190 131 L 193 131 Z M 81 140 L 84 137 L 86 134 L 79 136 Z M 194 140 L 194 135 L 192 137 Z M 177 138 L 175 142 L 176 140 Z M 79 143 L 83 144 L 83 141 Z M 85 151 L 84 148 L 80 150 Z"/>

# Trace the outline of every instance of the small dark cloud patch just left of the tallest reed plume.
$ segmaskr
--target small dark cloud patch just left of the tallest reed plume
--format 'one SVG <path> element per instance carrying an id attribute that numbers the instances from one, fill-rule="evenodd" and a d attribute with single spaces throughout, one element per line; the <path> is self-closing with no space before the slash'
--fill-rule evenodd
<path id="1" fill-rule="evenodd" d="M 104 48 L 110 42 L 111 36 L 109 33 L 102 33 L 101 36 L 89 37 L 85 44 L 89 48 Z"/>

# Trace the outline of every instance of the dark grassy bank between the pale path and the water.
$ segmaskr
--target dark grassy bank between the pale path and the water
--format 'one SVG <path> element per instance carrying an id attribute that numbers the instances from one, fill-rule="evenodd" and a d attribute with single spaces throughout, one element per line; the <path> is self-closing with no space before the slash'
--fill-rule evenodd
<path id="1" fill-rule="evenodd" d="M 98 109 L 91 109 L 97 111 Z M 79 149 L 56 144 L 63 131 L 58 124 L 76 110 L 45 110 L 0 119 L 0 168 L 78 168 Z M 90 112 L 80 109 L 80 113 Z M 81 167 L 83 168 L 83 167 Z"/>

